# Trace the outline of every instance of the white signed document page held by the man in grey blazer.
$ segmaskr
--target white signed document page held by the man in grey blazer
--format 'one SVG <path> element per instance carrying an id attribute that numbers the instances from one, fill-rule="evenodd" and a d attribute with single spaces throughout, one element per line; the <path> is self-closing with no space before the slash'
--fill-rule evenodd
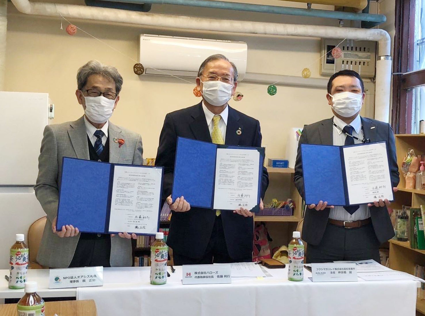
<path id="1" fill-rule="evenodd" d="M 110 232 L 155 234 L 161 199 L 161 168 L 114 166 Z"/>

